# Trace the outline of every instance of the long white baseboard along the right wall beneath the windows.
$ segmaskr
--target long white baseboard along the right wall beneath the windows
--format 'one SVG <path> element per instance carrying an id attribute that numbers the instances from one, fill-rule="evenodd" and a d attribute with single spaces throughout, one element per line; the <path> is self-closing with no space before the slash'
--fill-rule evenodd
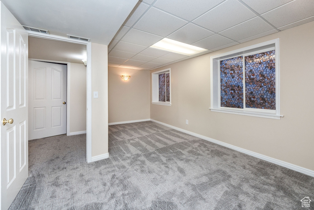
<path id="1" fill-rule="evenodd" d="M 206 136 L 202 136 L 202 135 L 199 135 L 199 134 L 197 134 L 197 133 L 193 133 L 193 132 L 190 132 L 190 131 L 181 129 L 181 128 L 177 128 L 177 127 L 174 127 L 174 126 L 172 126 L 172 125 L 168 125 L 168 124 L 166 124 L 166 123 L 159 122 L 159 121 L 157 121 L 157 120 L 151 119 L 151 121 L 152 121 L 152 122 L 159 123 L 159 124 L 164 125 L 164 126 L 167 126 L 167 127 L 169 127 L 169 128 L 173 128 L 173 129 L 178 130 L 178 131 L 181 131 L 181 132 L 183 132 L 183 133 L 190 134 L 190 135 L 195 136 L 195 137 L 198 137 L 198 138 L 200 138 L 200 139 L 204 139 L 204 140 L 213 142 L 213 143 L 215 143 L 215 144 L 222 145 L 222 146 L 228 147 L 228 148 L 233 149 L 233 150 L 237 150 L 237 151 L 242 152 L 242 153 L 245 153 L 245 154 L 247 154 L 247 155 L 250 155 L 250 156 L 253 156 L 253 157 L 257 157 L 257 158 L 262 159 L 262 160 L 264 160 L 264 161 L 268 161 L 268 162 L 277 164 L 277 165 L 279 165 L 279 166 L 283 166 L 283 167 L 286 167 L 286 168 L 295 170 L 295 171 L 297 171 L 297 172 L 304 173 L 304 174 L 306 174 L 306 175 L 309 175 L 309 176 L 314 177 L 314 171 L 313 171 L 313 170 L 310 170 L 310 169 L 307 169 L 307 168 L 304 168 L 304 167 L 300 167 L 300 166 L 297 166 L 297 165 L 294 165 L 294 164 L 291 164 L 291 163 L 288 163 L 288 162 L 284 162 L 284 161 L 281 161 L 281 160 L 278 160 L 278 159 L 275 159 L 275 158 L 272 158 L 272 157 L 268 157 L 268 156 L 266 156 L 266 155 L 262 155 L 262 154 L 259 154 L 259 153 L 256 153 L 256 152 L 252 152 L 252 151 L 250 151 L 250 150 L 242 149 L 241 147 L 237 147 L 237 146 L 234 146 L 234 145 L 230 145 L 230 144 L 224 143 L 224 142 L 222 142 L 222 141 L 218 141 L 218 140 L 216 140 L 216 139 L 208 138 L 208 137 L 206 137 Z"/>

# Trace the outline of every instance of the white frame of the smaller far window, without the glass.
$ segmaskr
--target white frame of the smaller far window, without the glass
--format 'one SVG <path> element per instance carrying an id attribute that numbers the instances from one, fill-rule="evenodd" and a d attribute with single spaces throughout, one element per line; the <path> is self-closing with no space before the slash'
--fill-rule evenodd
<path id="1" fill-rule="evenodd" d="M 169 73 L 170 101 L 163 102 L 159 101 L 159 75 L 167 73 Z M 171 106 L 171 68 L 152 73 L 152 104 Z"/>

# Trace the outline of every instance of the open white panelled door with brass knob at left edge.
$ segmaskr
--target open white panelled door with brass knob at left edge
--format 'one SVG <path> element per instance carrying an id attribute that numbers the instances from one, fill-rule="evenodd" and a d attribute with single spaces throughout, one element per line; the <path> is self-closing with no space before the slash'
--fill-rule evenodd
<path id="1" fill-rule="evenodd" d="M 6 210 L 28 177 L 28 33 L 2 2 L 0 7 L 1 209 Z"/>

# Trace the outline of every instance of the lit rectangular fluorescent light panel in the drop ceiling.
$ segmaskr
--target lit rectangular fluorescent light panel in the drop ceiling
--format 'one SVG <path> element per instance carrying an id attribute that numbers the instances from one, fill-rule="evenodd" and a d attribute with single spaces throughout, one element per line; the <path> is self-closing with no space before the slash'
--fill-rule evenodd
<path id="1" fill-rule="evenodd" d="M 174 53 L 184 55 L 194 55 L 206 51 L 207 49 L 199 48 L 183 42 L 178 42 L 172 39 L 163 38 L 159 42 L 150 46 L 151 48 L 162 49 Z"/>

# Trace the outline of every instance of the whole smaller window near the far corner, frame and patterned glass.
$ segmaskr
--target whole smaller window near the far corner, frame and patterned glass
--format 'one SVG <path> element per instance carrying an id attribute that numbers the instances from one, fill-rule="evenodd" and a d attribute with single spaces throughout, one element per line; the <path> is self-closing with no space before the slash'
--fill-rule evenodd
<path id="1" fill-rule="evenodd" d="M 152 73 L 152 103 L 171 105 L 170 68 Z"/>

